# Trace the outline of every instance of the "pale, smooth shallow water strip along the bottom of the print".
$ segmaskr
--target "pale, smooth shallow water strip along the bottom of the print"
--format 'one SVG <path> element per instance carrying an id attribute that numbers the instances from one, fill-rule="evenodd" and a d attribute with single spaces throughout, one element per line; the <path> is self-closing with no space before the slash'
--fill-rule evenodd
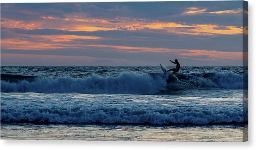
<path id="1" fill-rule="evenodd" d="M 244 137 L 248 128 L 244 129 Z M 1 139 L 241 142 L 243 127 L 1 124 Z M 246 139 L 243 139 L 244 141 Z"/>

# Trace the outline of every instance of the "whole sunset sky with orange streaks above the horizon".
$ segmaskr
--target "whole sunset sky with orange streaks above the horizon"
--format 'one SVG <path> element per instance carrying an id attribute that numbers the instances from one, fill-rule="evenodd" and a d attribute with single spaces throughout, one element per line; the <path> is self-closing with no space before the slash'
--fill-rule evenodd
<path id="1" fill-rule="evenodd" d="M 1 66 L 241 66 L 247 16 L 242 1 L 1 4 Z"/>

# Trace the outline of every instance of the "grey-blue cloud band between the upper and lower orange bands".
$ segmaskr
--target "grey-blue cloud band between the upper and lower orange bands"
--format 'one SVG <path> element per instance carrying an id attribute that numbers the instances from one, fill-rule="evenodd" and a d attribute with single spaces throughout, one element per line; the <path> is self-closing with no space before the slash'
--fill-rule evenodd
<path id="1" fill-rule="evenodd" d="M 9 31 L 12 31 L 9 33 Z M 242 51 L 240 45 L 243 44 L 242 34 L 218 34 L 214 36 L 189 35 L 189 34 L 169 34 L 166 32 L 134 32 L 133 30 L 111 30 L 111 31 L 65 31 L 54 29 L 2 29 L 1 38 L 14 37 L 22 38 L 29 35 L 78 35 L 97 36 L 102 39 L 93 40 L 73 40 L 94 45 L 120 45 L 135 47 L 163 47 L 176 49 L 217 49 L 219 51 Z M 32 38 L 35 39 L 35 38 Z M 31 40 L 32 40 L 31 39 Z M 117 43 L 118 41 L 118 43 Z M 210 48 L 209 48 L 210 47 Z"/>

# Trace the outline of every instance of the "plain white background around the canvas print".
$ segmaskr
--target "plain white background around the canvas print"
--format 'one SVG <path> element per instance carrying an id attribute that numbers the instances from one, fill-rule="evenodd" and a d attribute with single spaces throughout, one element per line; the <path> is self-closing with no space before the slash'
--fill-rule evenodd
<path id="1" fill-rule="evenodd" d="M 37 0 L 36 2 L 131 2 L 131 1 L 163 1 L 163 0 Z M 170 0 L 174 1 L 174 0 Z M 182 0 L 175 0 L 182 1 Z M 148 142 L 148 141 L 48 141 L 48 140 L 0 140 L 2 150 L 244 150 L 256 149 L 256 1 L 249 2 L 249 141 L 244 143 L 220 142 Z M 0 0 L 0 3 L 24 3 L 35 0 Z M 253 17 L 254 16 L 254 17 Z"/>

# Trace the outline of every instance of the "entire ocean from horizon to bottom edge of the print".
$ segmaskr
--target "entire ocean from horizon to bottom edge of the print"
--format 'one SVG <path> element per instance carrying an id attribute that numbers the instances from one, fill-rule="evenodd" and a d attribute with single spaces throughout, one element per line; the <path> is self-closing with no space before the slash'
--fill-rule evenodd
<path id="1" fill-rule="evenodd" d="M 1 139 L 245 140 L 247 68 L 175 76 L 160 66 L 1 66 Z"/>

